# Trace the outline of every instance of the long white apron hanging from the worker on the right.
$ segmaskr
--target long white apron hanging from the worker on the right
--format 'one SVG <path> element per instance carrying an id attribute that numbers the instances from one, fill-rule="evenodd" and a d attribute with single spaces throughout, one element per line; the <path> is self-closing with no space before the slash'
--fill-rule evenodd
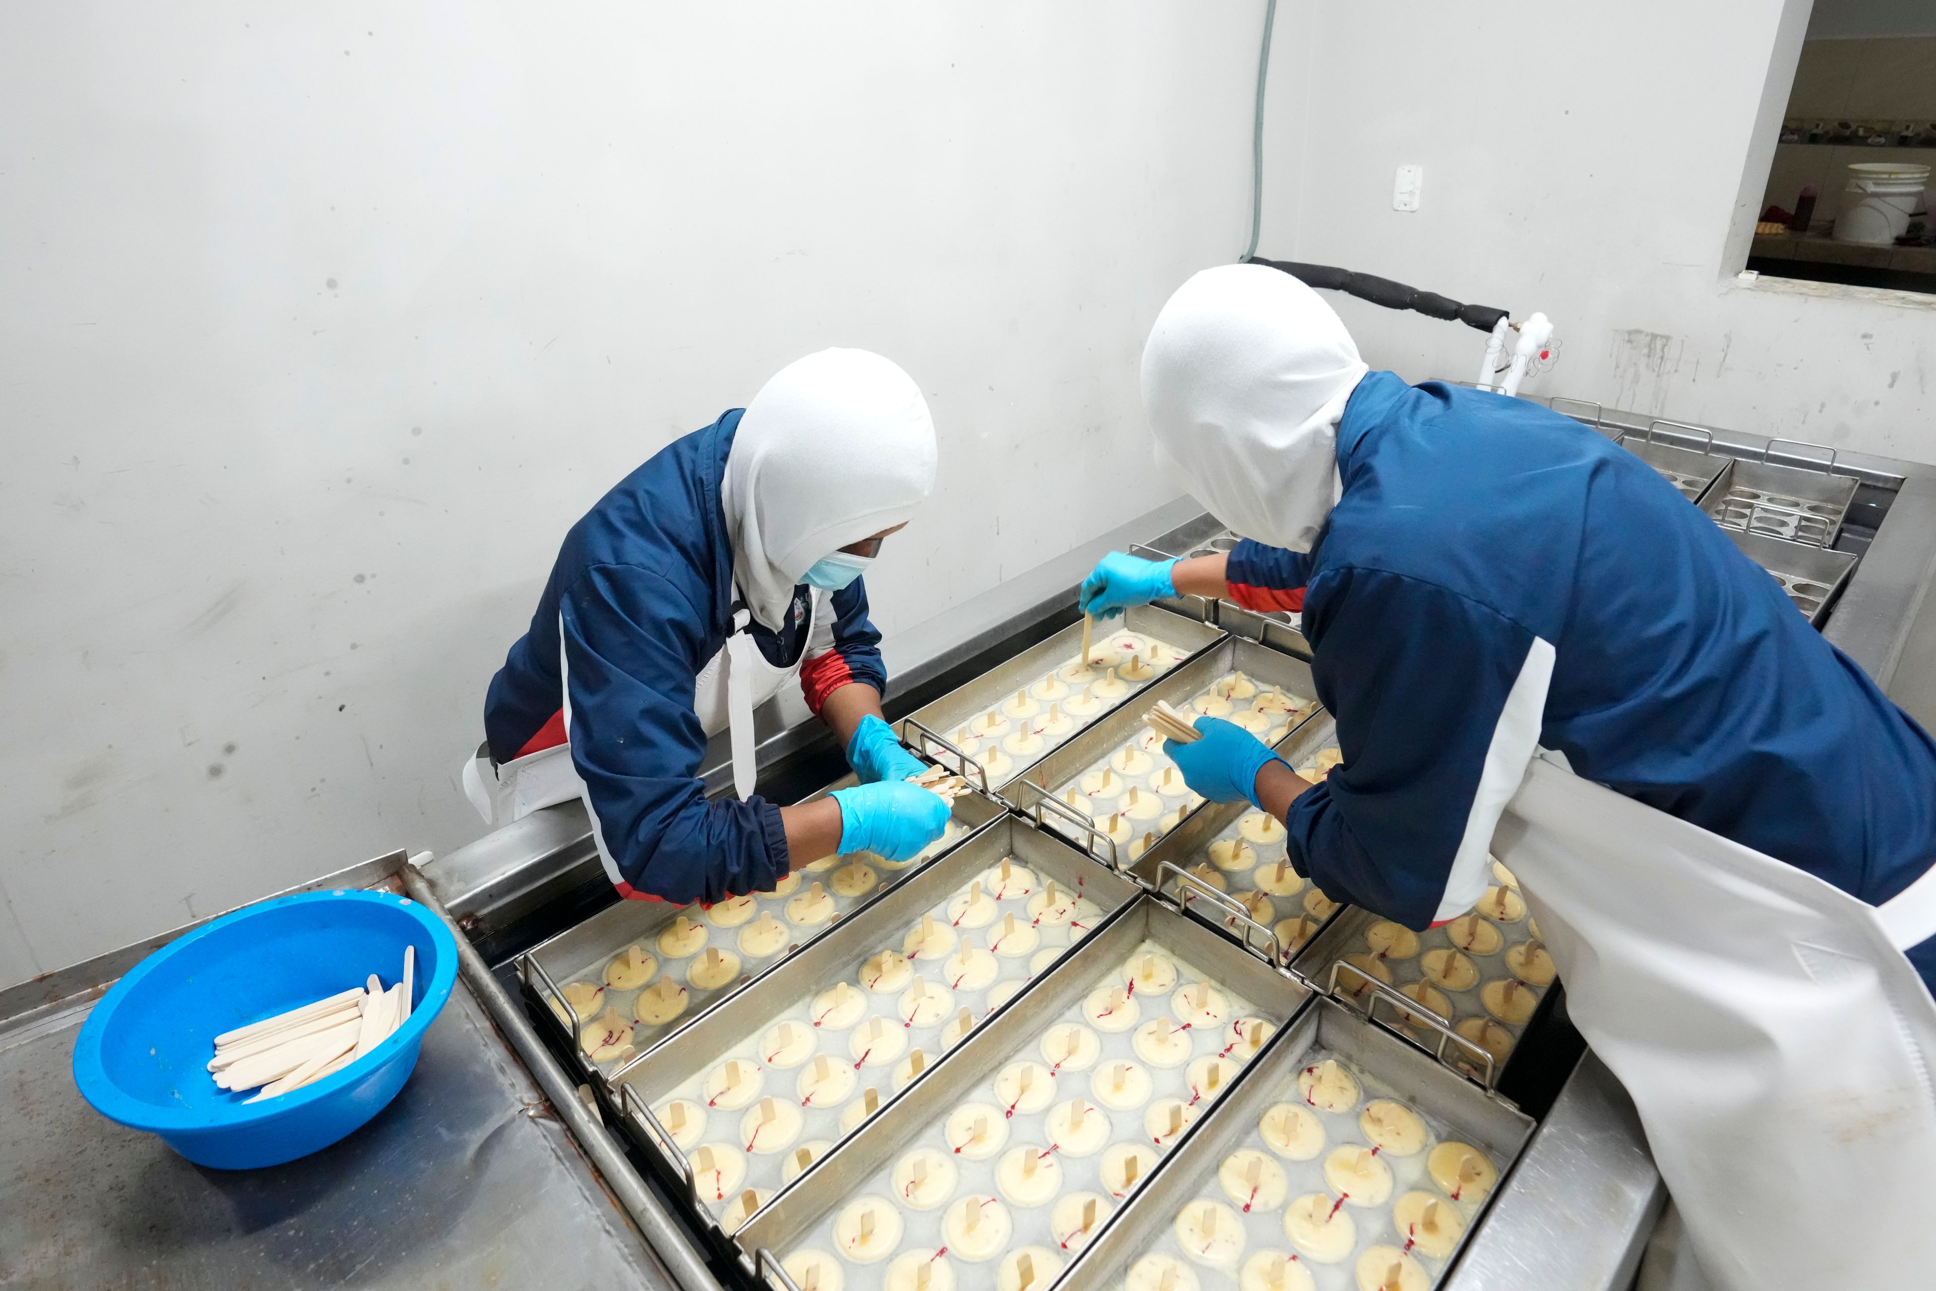
<path id="1" fill-rule="evenodd" d="M 1541 759 L 1493 846 L 1715 1287 L 1936 1285 L 1936 1001 L 1901 956 L 1936 873 L 1868 906 Z"/>

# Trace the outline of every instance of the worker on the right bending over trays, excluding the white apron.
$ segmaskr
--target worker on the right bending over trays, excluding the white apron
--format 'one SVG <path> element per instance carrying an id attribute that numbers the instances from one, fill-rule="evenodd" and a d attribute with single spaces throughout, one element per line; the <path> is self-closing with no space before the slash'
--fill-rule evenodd
<path id="1" fill-rule="evenodd" d="M 1367 372 L 1260 265 L 1196 275 L 1144 354 L 1158 455 L 1243 534 L 1111 554 L 1096 614 L 1196 592 L 1295 610 L 1344 755 L 1307 784 L 1241 728 L 1165 743 L 1251 799 L 1334 900 L 1423 929 L 1469 910 L 1535 749 L 1882 904 L 1936 861 L 1936 745 L 1783 588 L 1626 449 L 1541 408 Z M 1909 952 L 1936 983 L 1936 941 Z"/>

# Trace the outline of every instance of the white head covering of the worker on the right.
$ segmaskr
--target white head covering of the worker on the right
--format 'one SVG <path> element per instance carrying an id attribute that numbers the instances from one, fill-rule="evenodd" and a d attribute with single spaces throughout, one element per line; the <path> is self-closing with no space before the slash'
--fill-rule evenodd
<path id="1" fill-rule="evenodd" d="M 1338 418 L 1365 372 L 1344 319 L 1291 275 L 1204 269 L 1142 350 L 1156 457 L 1245 538 L 1307 552 L 1336 499 Z"/>

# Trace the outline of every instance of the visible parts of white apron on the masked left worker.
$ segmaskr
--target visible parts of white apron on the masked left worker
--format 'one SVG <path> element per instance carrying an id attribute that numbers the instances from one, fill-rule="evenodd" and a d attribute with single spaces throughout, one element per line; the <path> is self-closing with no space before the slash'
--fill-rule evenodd
<path id="1" fill-rule="evenodd" d="M 819 617 L 821 592 L 809 588 L 807 621 L 802 625 L 800 656 L 790 668 L 774 668 L 759 652 L 747 623 L 753 617 L 745 610 L 734 610 L 732 633 L 726 645 L 707 660 L 693 681 L 693 714 L 699 718 L 707 737 L 732 728 L 732 786 L 734 794 L 745 797 L 753 792 L 759 766 L 753 761 L 753 708 L 772 699 L 782 685 L 800 676 L 800 666 L 813 646 L 813 625 Z M 563 660 L 563 625 L 560 625 L 558 676 L 569 677 Z M 585 782 L 571 765 L 571 701 L 569 687 L 560 697 L 565 710 L 567 741 L 525 757 L 511 759 L 501 766 L 492 766 L 490 745 L 480 743 L 463 766 L 465 797 L 492 828 L 523 821 L 538 807 L 567 803 L 585 796 Z"/>

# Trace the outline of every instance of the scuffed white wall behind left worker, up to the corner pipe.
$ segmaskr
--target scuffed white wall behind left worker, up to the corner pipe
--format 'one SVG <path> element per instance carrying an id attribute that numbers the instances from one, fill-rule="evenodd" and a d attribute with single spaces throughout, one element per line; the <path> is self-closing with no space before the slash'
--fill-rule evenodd
<path id="1" fill-rule="evenodd" d="M 0 8 L 0 983 L 447 850 L 563 528 L 825 345 L 916 623 L 1138 515 L 1260 4 Z"/>

